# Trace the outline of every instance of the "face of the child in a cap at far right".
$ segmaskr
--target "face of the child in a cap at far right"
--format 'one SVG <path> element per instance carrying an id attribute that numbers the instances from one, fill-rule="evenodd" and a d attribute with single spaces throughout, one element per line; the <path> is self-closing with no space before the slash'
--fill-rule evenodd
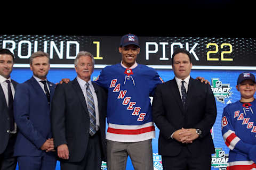
<path id="1" fill-rule="evenodd" d="M 244 80 L 236 86 L 236 89 L 241 94 L 241 100 L 253 99 L 253 95 L 256 91 L 256 84 L 250 80 Z"/>

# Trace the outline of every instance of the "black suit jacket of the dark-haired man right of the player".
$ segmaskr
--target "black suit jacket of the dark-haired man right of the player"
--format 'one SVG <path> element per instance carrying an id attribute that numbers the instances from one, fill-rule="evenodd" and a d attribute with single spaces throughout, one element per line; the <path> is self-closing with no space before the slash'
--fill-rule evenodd
<path id="1" fill-rule="evenodd" d="M 153 120 L 160 130 L 159 154 L 177 156 L 185 146 L 194 155 L 213 154 L 215 150 L 210 130 L 216 116 L 215 98 L 209 84 L 189 79 L 185 109 L 175 79 L 159 84 L 153 98 Z M 188 144 L 170 138 L 174 131 L 181 128 L 200 129 L 202 137 Z"/>

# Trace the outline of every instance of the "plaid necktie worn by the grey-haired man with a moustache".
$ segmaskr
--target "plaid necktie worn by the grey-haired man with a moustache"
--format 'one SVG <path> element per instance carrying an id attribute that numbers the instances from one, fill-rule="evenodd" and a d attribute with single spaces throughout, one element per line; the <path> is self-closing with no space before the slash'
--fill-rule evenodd
<path id="1" fill-rule="evenodd" d="M 95 115 L 95 107 L 92 92 L 89 88 L 89 83 L 86 82 L 86 94 L 87 94 L 87 106 L 88 112 L 90 116 L 90 131 L 89 134 L 93 135 L 96 133 L 96 115 Z"/>

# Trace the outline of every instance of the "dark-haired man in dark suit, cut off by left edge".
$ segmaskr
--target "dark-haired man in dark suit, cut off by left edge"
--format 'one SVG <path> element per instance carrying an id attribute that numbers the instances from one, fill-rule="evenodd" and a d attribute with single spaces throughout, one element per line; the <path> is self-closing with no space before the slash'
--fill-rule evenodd
<path id="1" fill-rule="evenodd" d="M 13 96 L 17 82 L 11 80 L 14 55 L 9 49 L 0 49 L 0 169 L 14 170 L 17 158 L 13 147 L 17 137 L 17 125 L 13 118 Z"/>

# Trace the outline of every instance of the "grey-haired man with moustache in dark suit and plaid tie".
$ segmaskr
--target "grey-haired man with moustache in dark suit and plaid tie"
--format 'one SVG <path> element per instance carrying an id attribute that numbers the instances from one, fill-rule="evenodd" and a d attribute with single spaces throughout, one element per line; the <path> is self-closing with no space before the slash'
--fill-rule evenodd
<path id="1" fill-rule="evenodd" d="M 58 84 L 51 106 L 54 146 L 61 169 L 100 169 L 106 160 L 106 92 L 91 81 L 94 58 L 79 52 L 75 59 L 77 77 Z"/>

